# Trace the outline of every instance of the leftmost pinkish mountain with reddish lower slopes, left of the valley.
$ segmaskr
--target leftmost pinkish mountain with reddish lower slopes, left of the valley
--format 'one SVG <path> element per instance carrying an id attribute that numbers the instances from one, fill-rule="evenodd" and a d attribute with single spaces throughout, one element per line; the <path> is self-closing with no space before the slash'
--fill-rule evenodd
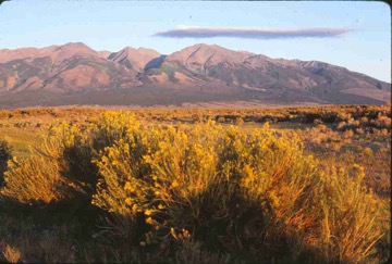
<path id="1" fill-rule="evenodd" d="M 136 72 L 103 59 L 83 43 L 0 51 L 0 92 L 48 89 L 53 92 L 135 85 Z"/>

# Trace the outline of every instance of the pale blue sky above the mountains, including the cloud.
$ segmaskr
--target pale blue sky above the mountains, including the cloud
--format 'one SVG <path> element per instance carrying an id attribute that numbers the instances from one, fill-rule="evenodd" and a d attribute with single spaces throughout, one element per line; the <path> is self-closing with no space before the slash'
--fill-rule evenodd
<path id="1" fill-rule="evenodd" d="M 323 61 L 391 83 L 391 10 L 376 1 L 64 1 L 0 5 L 0 49 L 84 42 L 170 54 L 195 43 Z"/>

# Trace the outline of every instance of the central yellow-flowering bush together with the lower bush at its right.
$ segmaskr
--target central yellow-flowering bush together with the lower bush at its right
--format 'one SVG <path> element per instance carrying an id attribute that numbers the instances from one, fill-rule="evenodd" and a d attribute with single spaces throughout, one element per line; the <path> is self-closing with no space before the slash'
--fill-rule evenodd
<path id="1" fill-rule="evenodd" d="M 93 203 L 112 213 L 117 239 L 163 255 L 182 234 L 254 261 L 380 257 L 388 229 L 363 176 L 324 173 L 302 148 L 294 135 L 267 128 L 133 129 L 96 160 L 101 179 Z"/>

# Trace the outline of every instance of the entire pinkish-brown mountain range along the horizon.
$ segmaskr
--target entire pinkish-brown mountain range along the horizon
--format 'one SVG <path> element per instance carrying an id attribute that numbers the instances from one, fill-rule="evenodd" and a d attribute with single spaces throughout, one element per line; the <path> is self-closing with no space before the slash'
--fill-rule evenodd
<path id="1" fill-rule="evenodd" d="M 0 50 L 0 106 L 384 103 L 391 86 L 318 61 L 194 45 L 169 55 L 81 42 Z"/>

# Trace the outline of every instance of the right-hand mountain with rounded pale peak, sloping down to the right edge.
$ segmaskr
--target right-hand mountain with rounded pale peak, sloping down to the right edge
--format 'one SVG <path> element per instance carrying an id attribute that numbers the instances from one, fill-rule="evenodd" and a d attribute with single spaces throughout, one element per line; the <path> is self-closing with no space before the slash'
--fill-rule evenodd
<path id="1" fill-rule="evenodd" d="M 282 96 L 306 91 L 322 100 L 334 100 L 339 93 L 360 93 L 365 90 L 376 100 L 387 100 L 390 86 L 368 76 L 322 62 L 273 60 L 249 52 L 235 52 L 219 46 L 196 45 L 166 58 L 160 65 L 172 83 L 181 83 L 176 76 L 192 83 L 220 80 L 259 91 L 280 91 Z M 154 76 L 154 74 L 150 74 Z M 184 77 L 185 76 L 185 77 Z M 166 78 L 163 78 L 166 79 Z"/>

